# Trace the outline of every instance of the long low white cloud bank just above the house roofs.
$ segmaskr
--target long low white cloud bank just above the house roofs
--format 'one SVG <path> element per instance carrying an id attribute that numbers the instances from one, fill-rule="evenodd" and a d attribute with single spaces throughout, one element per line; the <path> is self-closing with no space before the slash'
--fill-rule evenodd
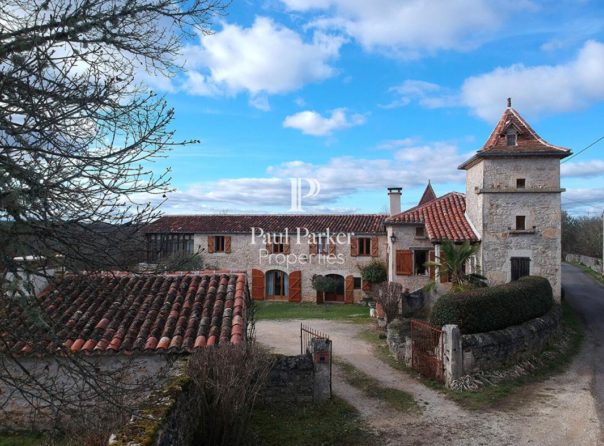
<path id="1" fill-rule="evenodd" d="M 455 169 L 470 154 L 445 142 L 409 145 L 404 141 L 398 149 L 386 152 L 387 156 L 377 159 L 337 157 L 323 164 L 289 161 L 266 169 L 264 178 L 232 178 L 190 185 L 168 193 L 162 210 L 172 214 L 208 212 L 287 212 L 290 208 L 290 179 L 313 178 L 320 183 L 320 194 L 304 198 L 303 208 L 307 212 L 344 212 L 358 209 L 342 209 L 338 200 L 358 192 L 383 192 L 386 187 L 399 185 L 405 190 L 425 187 L 428 179 L 432 183 L 458 183 L 463 190 L 464 173 Z M 453 166 L 453 167 L 452 167 Z M 303 187 L 308 188 L 303 181 Z M 303 194 L 307 192 L 303 190 Z M 405 192 L 403 193 L 405 195 Z M 155 196 L 138 197 L 139 202 L 161 202 Z M 379 203 L 381 205 L 381 203 Z M 379 212 L 365 209 L 368 212 Z"/>

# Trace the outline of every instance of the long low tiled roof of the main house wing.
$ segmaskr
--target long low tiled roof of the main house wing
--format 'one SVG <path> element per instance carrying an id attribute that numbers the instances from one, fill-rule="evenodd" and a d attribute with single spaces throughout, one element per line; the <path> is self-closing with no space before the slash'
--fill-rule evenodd
<path id="1" fill-rule="evenodd" d="M 146 233 L 209 233 L 249 234 L 252 228 L 265 232 L 295 231 L 306 228 L 309 232 L 345 232 L 356 234 L 384 233 L 385 215 L 331 214 L 331 215 L 166 215 L 147 226 Z"/>

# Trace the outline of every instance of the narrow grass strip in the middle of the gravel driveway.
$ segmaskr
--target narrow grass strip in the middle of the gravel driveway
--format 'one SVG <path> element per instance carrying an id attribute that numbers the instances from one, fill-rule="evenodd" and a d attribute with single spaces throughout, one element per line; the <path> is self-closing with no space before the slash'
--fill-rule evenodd
<path id="1" fill-rule="evenodd" d="M 378 380 L 348 362 L 338 361 L 337 364 L 344 372 L 346 382 L 361 390 L 368 397 L 381 400 L 401 412 L 419 410 L 419 406 L 411 394 L 392 387 L 382 386 Z"/>

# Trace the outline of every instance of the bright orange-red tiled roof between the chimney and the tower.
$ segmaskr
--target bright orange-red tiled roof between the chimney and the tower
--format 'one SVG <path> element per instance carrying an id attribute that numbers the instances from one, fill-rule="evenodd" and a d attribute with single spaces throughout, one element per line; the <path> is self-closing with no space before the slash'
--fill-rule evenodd
<path id="1" fill-rule="evenodd" d="M 478 241 L 476 233 L 465 216 L 466 199 L 459 192 L 416 206 L 386 219 L 386 224 L 424 224 L 431 241 Z"/>

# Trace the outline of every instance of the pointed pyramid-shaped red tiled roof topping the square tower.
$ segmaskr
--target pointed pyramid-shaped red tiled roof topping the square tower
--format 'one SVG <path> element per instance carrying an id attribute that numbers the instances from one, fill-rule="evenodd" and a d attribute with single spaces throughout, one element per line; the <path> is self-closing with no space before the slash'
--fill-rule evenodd
<path id="1" fill-rule="evenodd" d="M 517 132 L 515 146 L 507 145 L 506 131 L 510 127 L 514 127 Z M 465 169 L 472 166 L 478 159 L 489 156 L 544 155 L 565 158 L 570 154 L 570 149 L 554 146 L 541 138 L 516 110 L 508 107 L 484 146 L 459 168 Z"/>

